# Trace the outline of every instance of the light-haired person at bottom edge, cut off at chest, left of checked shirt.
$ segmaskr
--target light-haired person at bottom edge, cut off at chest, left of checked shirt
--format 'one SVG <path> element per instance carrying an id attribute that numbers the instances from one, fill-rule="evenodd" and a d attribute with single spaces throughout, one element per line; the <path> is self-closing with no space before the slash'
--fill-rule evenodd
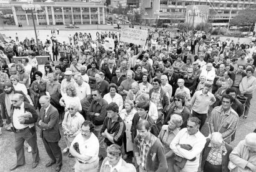
<path id="1" fill-rule="evenodd" d="M 107 148 L 107 157 L 102 161 L 100 172 L 122 171 L 136 172 L 134 165 L 126 163 L 121 157 L 122 149 L 113 144 Z"/>

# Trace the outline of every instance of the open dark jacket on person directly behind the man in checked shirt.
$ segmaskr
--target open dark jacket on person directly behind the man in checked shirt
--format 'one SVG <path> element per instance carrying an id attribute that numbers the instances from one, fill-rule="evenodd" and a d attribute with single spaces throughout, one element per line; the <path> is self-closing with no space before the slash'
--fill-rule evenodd
<path id="1" fill-rule="evenodd" d="M 139 122 L 139 119 L 139 114 L 138 112 L 136 112 L 134 114 L 134 118 L 132 119 L 132 127 L 130 127 L 130 132 L 132 132 L 132 142 L 134 142 L 134 138 L 137 136 L 137 124 Z M 147 114 L 145 120 L 147 120 L 150 124 L 150 132 L 158 137 L 160 130 L 157 129 L 157 125 L 155 125 L 154 120 L 149 116 L 149 114 Z"/>

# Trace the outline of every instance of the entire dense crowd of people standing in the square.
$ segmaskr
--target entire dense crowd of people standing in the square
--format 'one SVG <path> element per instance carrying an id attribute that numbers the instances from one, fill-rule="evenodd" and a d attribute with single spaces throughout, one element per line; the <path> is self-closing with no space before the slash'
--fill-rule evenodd
<path id="1" fill-rule="evenodd" d="M 39 129 L 51 159 L 46 167 L 56 164 L 56 171 L 65 153 L 76 158 L 77 172 L 256 171 L 256 133 L 229 145 L 240 117 L 249 115 L 254 43 L 212 38 L 207 44 L 189 34 L 174 43 L 149 34 L 145 45 L 135 45 L 120 37 L 76 33 L 60 43 L 52 33 L 36 45 L 16 35 L 0 46 L 0 135 L 2 127 L 14 132 L 17 154 L 10 170 L 25 164 L 24 141 L 32 168 L 39 164 Z M 44 71 L 39 55 L 49 57 Z M 15 64 L 16 57 L 22 60 Z"/>

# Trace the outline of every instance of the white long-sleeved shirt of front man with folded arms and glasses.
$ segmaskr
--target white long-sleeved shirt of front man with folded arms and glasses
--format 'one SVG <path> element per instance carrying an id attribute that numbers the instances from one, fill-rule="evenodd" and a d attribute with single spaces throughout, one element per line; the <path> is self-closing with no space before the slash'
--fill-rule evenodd
<path id="1" fill-rule="evenodd" d="M 180 130 L 179 133 L 174 137 L 174 139 L 170 143 L 170 148 L 176 155 L 182 158 L 186 158 L 188 160 L 192 160 L 193 158 L 196 158 L 195 161 L 187 161 L 182 171 L 184 172 L 198 171 L 200 153 L 204 149 L 205 143 L 206 143 L 206 139 L 200 131 L 198 131 L 195 135 L 189 135 L 187 132 L 187 128 Z M 185 150 L 184 148 L 180 147 L 180 144 L 189 144 L 192 147 L 192 149 Z"/>

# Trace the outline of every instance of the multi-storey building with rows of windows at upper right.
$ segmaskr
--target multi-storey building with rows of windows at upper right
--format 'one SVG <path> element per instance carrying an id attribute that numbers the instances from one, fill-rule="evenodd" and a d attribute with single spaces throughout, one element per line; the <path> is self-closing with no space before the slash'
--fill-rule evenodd
<path id="1" fill-rule="evenodd" d="M 185 22 L 187 6 L 209 6 L 208 22 L 213 25 L 227 25 L 229 17 L 256 4 L 256 0 L 140 0 L 147 12 L 147 22 L 162 20 L 164 23 Z"/>

